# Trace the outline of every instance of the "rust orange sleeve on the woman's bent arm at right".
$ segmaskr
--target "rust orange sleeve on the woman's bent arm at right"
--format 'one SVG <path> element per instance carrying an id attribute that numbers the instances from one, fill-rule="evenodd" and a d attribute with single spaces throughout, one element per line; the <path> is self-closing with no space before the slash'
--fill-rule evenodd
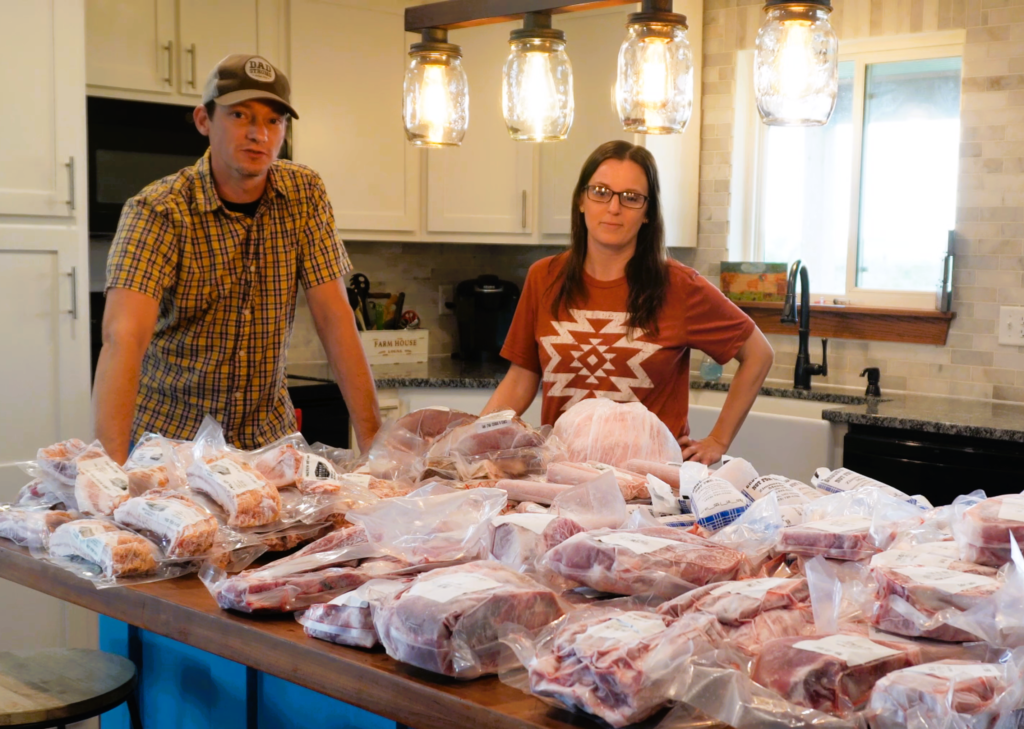
<path id="1" fill-rule="evenodd" d="M 699 273 L 686 273 L 687 344 L 725 364 L 754 333 L 754 319 Z"/>

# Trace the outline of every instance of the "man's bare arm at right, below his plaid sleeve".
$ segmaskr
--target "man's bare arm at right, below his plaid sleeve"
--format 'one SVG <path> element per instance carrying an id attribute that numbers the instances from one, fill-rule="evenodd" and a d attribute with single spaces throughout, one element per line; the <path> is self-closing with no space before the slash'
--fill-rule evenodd
<path id="1" fill-rule="evenodd" d="M 381 412 L 370 363 L 355 329 L 355 314 L 344 289 L 341 278 L 313 286 L 306 289 L 306 300 L 334 379 L 345 398 L 359 451 L 367 453 L 380 430 Z"/>

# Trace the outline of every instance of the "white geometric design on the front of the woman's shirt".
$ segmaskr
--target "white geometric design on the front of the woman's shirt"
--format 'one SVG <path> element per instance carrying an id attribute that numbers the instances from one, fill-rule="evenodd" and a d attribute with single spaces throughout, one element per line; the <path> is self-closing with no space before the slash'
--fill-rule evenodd
<path id="1" fill-rule="evenodd" d="M 647 376 L 647 373 L 645 373 L 640 366 L 645 359 L 662 347 L 651 342 L 631 339 L 628 336 L 630 333 L 629 327 L 626 326 L 627 314 L 621 311 L 587 311 L 579 309 L 570 309 L 569 314 L 573 318 L 572 321 L 553 320 L 551 323 L 552 327 L 554 327 L 557 332 L 556 335 L 541 337 L 541 346 L 544 347 L 550 356 L 548 366 L 544 369 L 543 378 L 544 382 L 552 383 L 549 394 L 552 397 L 569 398 L 568 401 L 562 405 L 561 410 L 568 410 L 590 394 L 593 394 L 596 397 L 607 397 L 609 400 L 614 400 L 616 402 L 634 402 L 639 399 L 635 392 L 636 389 L 650 389 L 654 386 L 650 377 Z M 608 324 L 598 332 L 591 326 L 588 319 L 606 320 Z M 622 335 L 622 337 L 615 340 L 613 344 L 605 345 L 601 339 L 593 339 L 586 336 L 587 334 L 597 333 L 603 335 L 616 334 Z M 562 356 L 558 353 L 558 350 L 554 346 L 556 344 L 583 347 L 582 349 L 572 349 L 569 351 L 569 354 L 572 356 L 572 361 L 567 362 L 566 367 L 571 368 L 574 372 L 555 372 L 562 361 Z M 593 354 L 595 350 L 597 350 L 605 360 L 602 366 L 597 368 L 594 368 L 594 364 L 600 361 L 600 359 Z M 606 375 L 606 371 L 614 371 L 615 369 L 611 363 L 612 358 L 616 354 L 626 354 L 623 350 L 633 350 L 636 352 L 635 354 L 632 354 L 626 362 L 627 367 L 629 367 L 630 371 L 633 373 L 633 377 L 615 377 Z M 584 359 L 584 355 L 588 352 L 591 352 L 591 356 Z M 584 362 L 587 362 L 591 367 L 588 368 Z M 582 375 L 589 375 L 590 377 L 588 377 L 585 382 L 593 385 L 601 384 L 601 382 L 594 377 L 595 375 L 600 375 L 606 383 L 605 386 L 610 384 L 614 386 L 615 389 L 570 387 L 569 385 L 573 379 Z"/>

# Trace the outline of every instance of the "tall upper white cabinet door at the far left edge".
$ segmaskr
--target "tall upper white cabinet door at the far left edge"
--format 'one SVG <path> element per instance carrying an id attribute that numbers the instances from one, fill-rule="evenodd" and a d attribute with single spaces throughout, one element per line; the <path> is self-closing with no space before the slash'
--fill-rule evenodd
<path id="1" fill-rule="evenodd" d="M 13 103 L 0 121 L 0 215 L 75 216 L 87 204 L 81 4 L 2 8 L 0 68 Z"/>

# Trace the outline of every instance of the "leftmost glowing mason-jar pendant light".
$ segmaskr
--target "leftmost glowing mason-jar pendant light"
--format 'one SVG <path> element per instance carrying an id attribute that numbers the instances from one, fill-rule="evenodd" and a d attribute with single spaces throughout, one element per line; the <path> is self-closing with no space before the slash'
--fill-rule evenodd
<path id="1" fill-rule="evenodd" d="M 469 126 L 469 83 L 462 48 L 447 42 L 447 31 L 428 28 L 409 49 L 402 121 L 417 146 L 459 146 Z"/>

